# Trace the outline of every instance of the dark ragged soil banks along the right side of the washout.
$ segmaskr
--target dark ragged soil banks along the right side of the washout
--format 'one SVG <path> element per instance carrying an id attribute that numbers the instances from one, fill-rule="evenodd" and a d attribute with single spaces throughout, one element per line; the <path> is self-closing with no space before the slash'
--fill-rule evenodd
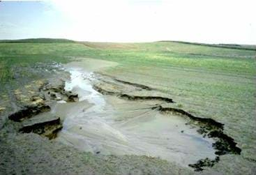
<path id="1" fill-rule="evenodd" d="M 104 80 L 103 80 L 104 83 L 97 82 L 96 84 L 93 85 L 93 88 L 104 95 L 117 96 L 125 100 L 158 100 L 162 102 L 170 102 L 170 103 L 173 102 L 172 98 L 165 98 L 161 96 L 129 95 L 126 93 L 127 87 L 123 88 L 123 86 L 120 86 L 120 83 L 128 84 L 129 86 L 135 86 L 135 88 L 137 87 L 141 88 L 141 85 L 133 84 L 130 82 L 124 82 L 122 80 L 117 80 L 114 77 L 109 77 L 109 79 L 111 79 L 109 80 L 109 79 L 106 79 L 107 75 L 103 75 L 103 76 L 104 76 Z M 103 77 L 99 77 L 99 79 L 101 78 Z M 115 84 L 114 81 L 118 83 Z M 139 91 L 142 91 L 142 89 L 144 88 L 139 89 Z M 129 91 L 129 92 L 130 94 L 134 94 L 133 91 L 136 91 L 136 90 L 137 89 L 135 90 L 133 89 L 132 91 Z M 147 86 L 146 90 L 152 90 L 152 88 Z M 153 91 L 157 91 L 157 89 L 154 89 Z M 197 117 L 197 116 L 194 116 L 193 114 L 190 114 L 184 111 L 183 109 L 174 108 L 174 107 L 163 107 L 163 105 L 156 104 L 156 106 L 151 107 L 151 109 L 158 110 L 166 115 L 178 114 L 179 116 L 184 116 L 190 119 L 190 121 L 187 123 L 188 125 L 196 125 L 197 127 L 199 127 L 199 129 L 197 130 L 199 134 L 203 135 L 203 137 L 207 136 L 215 140 L 212 146 L 214 149 L 216 149 L 216 152 L 215 152 L 216 158 L 213 160 L 209 158 L 205 158 L 202 160 L 198 160 L 195 164 L 190 164 L 189 166 L 193 167 L 195 171 L 202 171 L 203 167 L 213 167 L 213 165 L 220 160 L 219 155 L 241 153 L 241 149 L 236 146 L 236 142 L 234 142 L 234 139 L 232 137 L 229 137 L 223 132 L 224 130 L 223 123 L 220 123 L 218 121 L 215 121 L 209 118 Z"/>

